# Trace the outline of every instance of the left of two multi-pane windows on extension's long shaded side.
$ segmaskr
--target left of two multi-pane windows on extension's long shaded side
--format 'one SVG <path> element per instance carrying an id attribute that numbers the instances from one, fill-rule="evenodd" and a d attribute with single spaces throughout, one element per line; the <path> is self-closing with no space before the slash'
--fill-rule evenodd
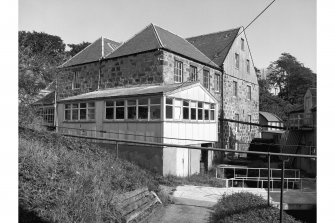
<path id="1" fill-rule="evenodd" d="M 94 120 L 95 103 L 65 104 L 65 120 Z"/>

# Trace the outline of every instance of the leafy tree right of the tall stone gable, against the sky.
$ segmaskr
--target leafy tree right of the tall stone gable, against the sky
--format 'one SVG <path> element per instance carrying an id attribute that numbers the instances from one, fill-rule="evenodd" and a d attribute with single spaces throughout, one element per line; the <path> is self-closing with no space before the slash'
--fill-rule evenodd
<path id="1" fill-rule="evenodd" d="M 268 70 L 270 86 L 278 87 L 278 96 L 291 104 L 302 104 L 307 89 L 316 87 L 316 74 L 289 53 L 282 53 Z"/>

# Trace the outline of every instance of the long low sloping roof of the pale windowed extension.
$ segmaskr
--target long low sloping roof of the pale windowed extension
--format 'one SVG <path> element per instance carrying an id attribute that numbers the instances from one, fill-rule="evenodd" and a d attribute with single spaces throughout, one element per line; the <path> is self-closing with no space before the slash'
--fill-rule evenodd
<path id="1" fill-rule="evenodd" d="M 110 97 L 125 97 L 125 96 L 139 96 L 139 95 L 155 95 L 155 94 L 165 94 L 180 90 L 191 85 L 200 85 L 199 82 L 184 82 L 178 84 L 169 85 L 146 85 L 146 86 L 136 86 L 127 88 L 111 88 L 99 91 L 93 91 L 85 94 L 80 94 L 76 96 L 71 96 L 60 100 L 62 101 L 76 101 L 76 100 L 87 100 L 87 99 L 101 99 Z"/>

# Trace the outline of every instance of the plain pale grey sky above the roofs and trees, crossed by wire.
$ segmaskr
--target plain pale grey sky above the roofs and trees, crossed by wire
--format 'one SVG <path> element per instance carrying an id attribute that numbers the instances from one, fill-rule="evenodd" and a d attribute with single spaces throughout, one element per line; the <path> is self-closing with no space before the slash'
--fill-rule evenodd
<path id="1" fill-rule="evenodd" d="M 181 37 L 246 27 L 272 0 L 19 0 L 19 30 L 66 44 L 104 36 L 126 41 L 154 23 Z M 316 0 L 277 0 L 247 30 L 255 66 L 281 53 L 316 72 Z"/>

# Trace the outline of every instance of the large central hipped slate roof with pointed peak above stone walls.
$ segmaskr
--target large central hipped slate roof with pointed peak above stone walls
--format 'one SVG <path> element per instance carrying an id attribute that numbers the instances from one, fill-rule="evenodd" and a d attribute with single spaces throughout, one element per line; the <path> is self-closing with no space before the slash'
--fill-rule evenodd
<path id="1" fill-rule="evenodd" d="M 197 62 L 219 68 L 187 40 L 154 24 L 148 25 L 106 58 L 127 56 L 154 49 L 166 49 Z"/>

